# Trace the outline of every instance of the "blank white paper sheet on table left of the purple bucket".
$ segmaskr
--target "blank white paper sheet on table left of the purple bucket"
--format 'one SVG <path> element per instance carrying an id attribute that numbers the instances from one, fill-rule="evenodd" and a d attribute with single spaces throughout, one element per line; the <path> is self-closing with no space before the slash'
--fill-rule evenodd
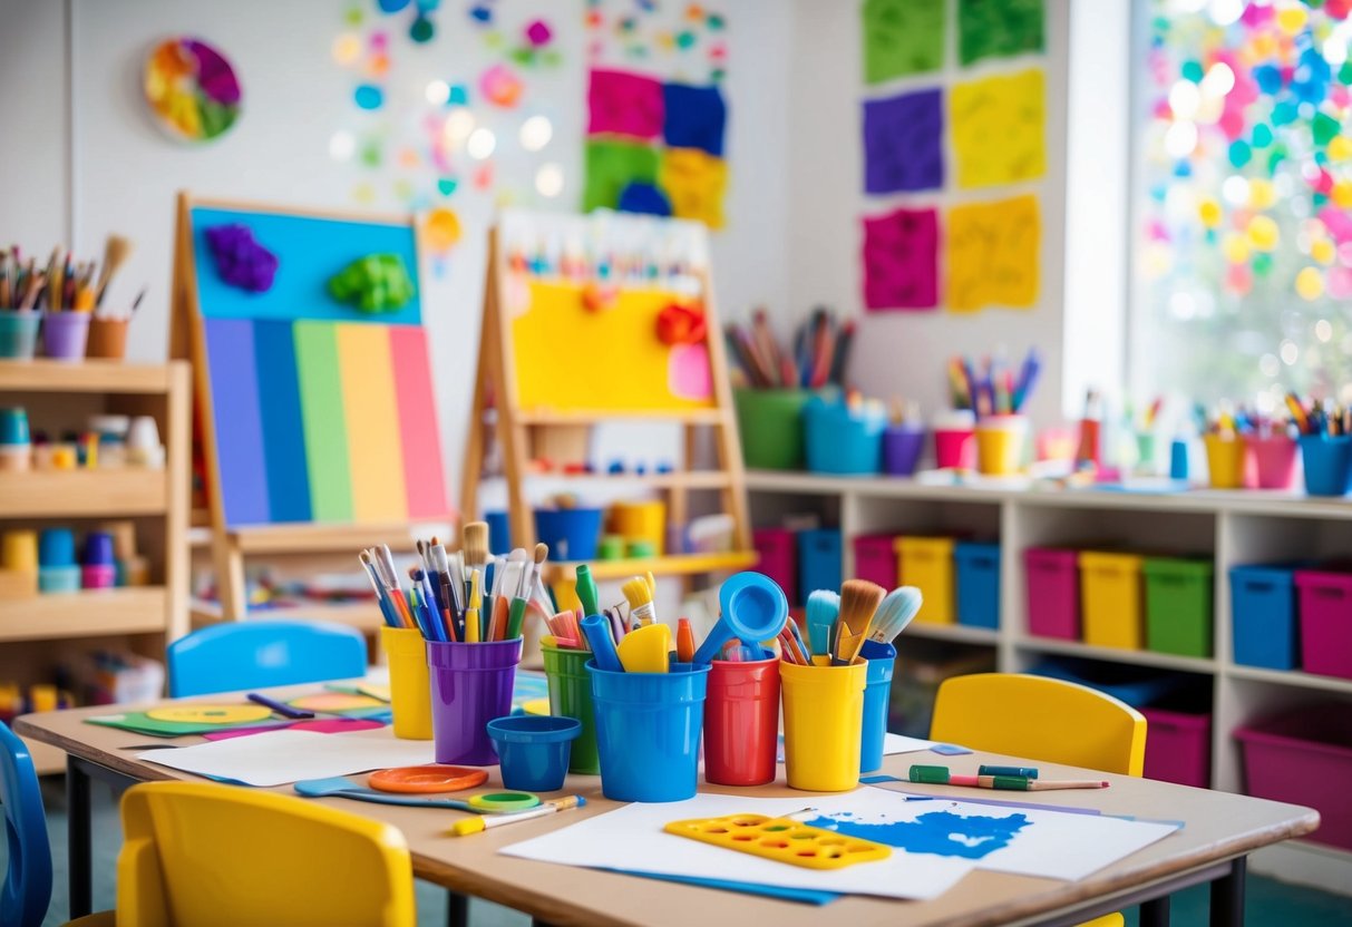
<path id="1" fill-rule="evenodd" d="M 137 759 L 246 785 L 283 785 L 303 778 L 347 776 L 434 759 L 431 741 L 400 741 L 383 727 L 353 734 L 269 731 L 176 750 L 147 750 Z"/>

